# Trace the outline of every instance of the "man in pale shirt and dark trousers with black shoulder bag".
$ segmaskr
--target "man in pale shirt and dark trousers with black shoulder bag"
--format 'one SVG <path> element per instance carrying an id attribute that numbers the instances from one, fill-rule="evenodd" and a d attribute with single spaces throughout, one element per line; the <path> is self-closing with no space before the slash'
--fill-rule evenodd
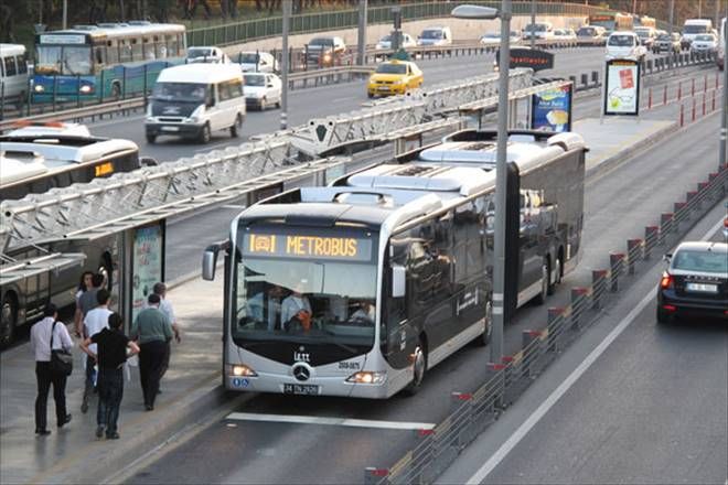
<path id="1" fill-rule="evenodd" d="M 71 422 L 71 414 L 66 412 L 66 375 L 51 370 L 51 349 L 69 351 L 73 347 L 73 341 L 66 326 L 57 319 L 58 310 L 53 303 L 49 303 L 43 311 L 43 320 L 31 328 L 31 351 L 35 356 L 35 379 L 38 381 L 35 434 L 42 436 L 51 434 L 47 429 L 47 402 L 51 385 L 53 385 L 53 400 L 58 428 Z"/>

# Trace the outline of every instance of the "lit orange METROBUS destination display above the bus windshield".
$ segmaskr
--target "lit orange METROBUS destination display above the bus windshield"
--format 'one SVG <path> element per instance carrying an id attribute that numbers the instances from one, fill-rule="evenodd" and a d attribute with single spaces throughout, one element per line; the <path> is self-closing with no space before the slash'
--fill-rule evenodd
<path id="1" fill-rule="evenodd" d="M 245 234 L 243 256 L 321 258 L 350 261 L 372 259 L 372 240 L 357 237 L 299 234 Z"/>

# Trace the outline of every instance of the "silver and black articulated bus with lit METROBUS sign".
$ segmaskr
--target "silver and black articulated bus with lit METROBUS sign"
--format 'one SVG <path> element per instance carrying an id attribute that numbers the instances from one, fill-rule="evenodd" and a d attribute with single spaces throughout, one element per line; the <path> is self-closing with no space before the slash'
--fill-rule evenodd
<path id="1" fill-rule="evenodd" d="M 494 132 L 246 208 L 225 249 L 227 389 L 388 398 L 490 337 Z M 506 304 L 543 301 L 580 249 L 584 140 L 512 132 Z"/>

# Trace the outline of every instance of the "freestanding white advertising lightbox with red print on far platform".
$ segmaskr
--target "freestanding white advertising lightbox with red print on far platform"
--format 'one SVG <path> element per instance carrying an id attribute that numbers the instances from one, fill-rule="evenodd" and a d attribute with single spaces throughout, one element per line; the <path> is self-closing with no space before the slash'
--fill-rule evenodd
<path id="1" fill-rule="evenodd" d="M 630 60 L 607 63 L 604 115 L 640 114 L 640 64 Z"/>

